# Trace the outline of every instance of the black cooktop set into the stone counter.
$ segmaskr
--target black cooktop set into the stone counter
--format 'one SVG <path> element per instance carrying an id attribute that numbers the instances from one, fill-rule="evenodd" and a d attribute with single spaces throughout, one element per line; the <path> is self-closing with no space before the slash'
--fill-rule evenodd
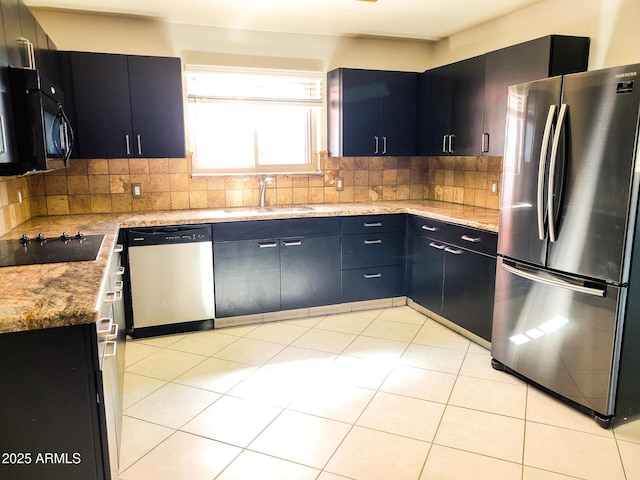
<path id="1" fill-rule="evenodd" d="M 95 260 L 104 235 L 63 233 L 59 237 L 23 235 L 17 240 L 0 241 L 0 267 L 36 265 L 41 263 L 81 262 Z"/>

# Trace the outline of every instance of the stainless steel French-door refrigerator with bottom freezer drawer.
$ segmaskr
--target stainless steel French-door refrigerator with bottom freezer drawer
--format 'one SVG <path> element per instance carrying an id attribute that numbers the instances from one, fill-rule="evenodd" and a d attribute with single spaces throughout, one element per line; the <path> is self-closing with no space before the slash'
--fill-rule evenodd
<path id="1" fill-rule="evenodd" d="M 604 427 L 640 404 L 639 111 L 640 65 L 509 89 L 492 364 Z"/>

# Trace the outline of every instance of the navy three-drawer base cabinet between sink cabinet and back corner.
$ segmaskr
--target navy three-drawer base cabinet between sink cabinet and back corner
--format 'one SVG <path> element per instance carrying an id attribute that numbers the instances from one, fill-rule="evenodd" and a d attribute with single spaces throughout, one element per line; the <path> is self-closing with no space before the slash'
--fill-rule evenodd
<path id="1" fill-rule="evenodd" d="M 405 294 L 406 215 L 341 218 L 342 302 Z"/>

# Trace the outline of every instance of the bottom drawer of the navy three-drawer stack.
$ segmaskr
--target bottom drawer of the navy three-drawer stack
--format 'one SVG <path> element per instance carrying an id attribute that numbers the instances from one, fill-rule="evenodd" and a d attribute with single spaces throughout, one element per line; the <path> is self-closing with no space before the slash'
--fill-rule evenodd
<path id="1" fill-rule="evenodd" d="M 402 265 L 342 271 L 342 301 L 357 302 L 404 295 Z"/>

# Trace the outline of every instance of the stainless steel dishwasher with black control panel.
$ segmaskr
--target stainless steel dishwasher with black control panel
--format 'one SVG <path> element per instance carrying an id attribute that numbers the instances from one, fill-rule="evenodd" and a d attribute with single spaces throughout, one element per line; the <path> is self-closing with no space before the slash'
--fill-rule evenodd
<path id="1" fill-rule="evenodd" d="M 209 225 L 131 229 L 127 243 L 134 337 L 213 327 Z"/>

